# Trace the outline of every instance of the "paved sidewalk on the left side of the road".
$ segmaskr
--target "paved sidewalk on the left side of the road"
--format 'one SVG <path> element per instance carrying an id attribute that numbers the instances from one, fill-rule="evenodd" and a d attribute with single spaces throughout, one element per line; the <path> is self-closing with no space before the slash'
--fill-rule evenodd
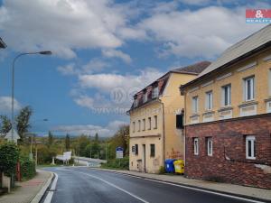
<path id="1" fill-rule="evenodd" d="M 37 175 L 28 181 L 16 182 L 16 188 L 11 193 L 0 196 L 1 203 L 29 203 L 39 194 L 40 190 L 51 182 L 52 174 L 37 170 Z"/>

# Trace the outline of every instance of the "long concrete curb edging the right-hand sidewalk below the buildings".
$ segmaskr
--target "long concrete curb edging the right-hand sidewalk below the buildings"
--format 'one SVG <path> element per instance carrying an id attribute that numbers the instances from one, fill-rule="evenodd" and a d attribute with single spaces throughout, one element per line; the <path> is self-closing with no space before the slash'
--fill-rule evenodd
<path id="1" fill-rule="evenodd" d="M 125 174 L 128 176 L 133 176 L 133 177 L 139 177 L 139 178 L 144 178 L 146 180 L 158 180 L 161 182 L 165 182 L 165 183 L 173 183 L 176 185 L 182 185 L 182 186 L 186 186 L 188 188 L 195 188 L 195 189 L 204 189 L 207 191 L 212 191 L 212 192 L 217 192 L 217 193 L 221 193 L 221 194 L 226 194 L 226 195 L 231 195 L 231 196 L 236 196 L 236 197 L 240 197 L 240 198 L 250 198 L 253 200 L 258 200 L 258 201 L 263 201 L 263 202 L 270 202 L 271 203 L 271 199 L 270 198 L 258 198 L 255 196 L 248 196 L 248 195 L 244 195 L 244 194 L 239 194 L 239 193 L 233 193 L 233 192 L 229 192 L 229 191 L 223 191 L 220 189 L 208 189 L 208 188 L 203 188 L 200 186 L 195 186 L 192 184 L 186 184 L 186 183 L 181 183 L 181 182 L 177 182 L 177 181 L 170 181 L 170 180 L 160 180 L 160 179 L 155 179 L 155 178 L 149 178 L 149 177 L 145 177 L 145 176 L 140 176 L 139 174 L 135 175 L 135 174 L 130 174 L 126 171 L 122 171 L 122 170 L 110 170 L 110 169 L 100 169 L 100 168 L 93 168 L 93 167 L 89 167 L 89 169 L 91 170 L 100 170 L 100 171 L 110 171 L 110 172 L 115 172 L 115 173 L 119 173 L 119 174 Z"/>

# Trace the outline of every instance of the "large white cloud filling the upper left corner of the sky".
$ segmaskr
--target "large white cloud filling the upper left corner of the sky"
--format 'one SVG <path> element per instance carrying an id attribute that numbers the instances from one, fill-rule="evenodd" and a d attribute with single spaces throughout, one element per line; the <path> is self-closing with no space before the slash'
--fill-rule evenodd
<path id="1" fill-rule="evenodd" d="M 73 58 L 75 49 L 114 49 L 123 44 L 121 35 L 137 36 L 127 9 L 111 0 L 8 0 L 0 7 L 0 31 L 15 51 Z"/>

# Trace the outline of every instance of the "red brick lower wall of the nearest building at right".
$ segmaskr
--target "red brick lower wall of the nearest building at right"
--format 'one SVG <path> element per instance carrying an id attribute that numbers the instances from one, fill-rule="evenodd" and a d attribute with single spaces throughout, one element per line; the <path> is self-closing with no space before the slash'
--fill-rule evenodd
<path id="1" fill-rule="evenodd" d="M 256 160 L 246 159 L 246 135 L 256 137 Z M 212 156 L 207 155 L 206 137 L 210 136 Z M 194 137 L 199 138 L 199 155 L 193 153 Z M 266 165 L 269 171 L 256 164 Z M 185 175 L 271 189 L 271 115 L 187 125 Z"/>

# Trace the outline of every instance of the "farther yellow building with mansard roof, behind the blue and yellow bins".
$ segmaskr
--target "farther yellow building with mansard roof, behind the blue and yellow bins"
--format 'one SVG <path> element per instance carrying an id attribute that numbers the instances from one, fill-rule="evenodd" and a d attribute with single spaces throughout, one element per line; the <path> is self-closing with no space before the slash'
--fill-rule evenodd
<path id="1" fill-rule="evenodd" d="M 130 170 L 156 173 L 165 159 L 183 159 L 180 81 L 185 84 L 210 65 L 202 61 L 173 69 L 134 96 L 130 115 Z M 176 125 L 178 117 L 178 125 Z"/>

